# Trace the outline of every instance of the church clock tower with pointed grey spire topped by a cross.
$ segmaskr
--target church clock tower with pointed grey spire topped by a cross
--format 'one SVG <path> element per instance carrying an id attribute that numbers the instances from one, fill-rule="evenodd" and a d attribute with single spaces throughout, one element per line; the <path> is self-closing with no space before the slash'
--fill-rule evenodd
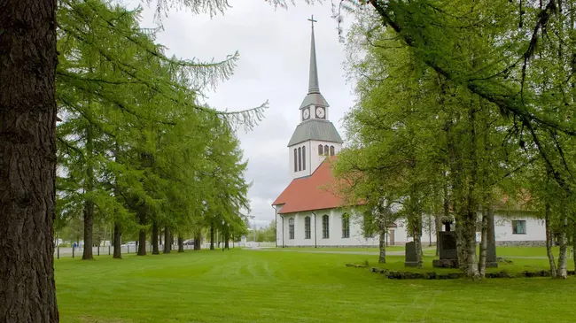
<path id="1" fill-rule="evenodd" d="M 294 179 L 314 173 L 324 158 L 334 156 L 342 149 L 342 138 L 328 118 L 330 105 L 320 93 L 318 85 L 314 37 L 316 20 L 314 16 L 308 20 L 312 23 L 308 93 L 300 104 L 300 124 L 288 142 L 289 170 Z"/>

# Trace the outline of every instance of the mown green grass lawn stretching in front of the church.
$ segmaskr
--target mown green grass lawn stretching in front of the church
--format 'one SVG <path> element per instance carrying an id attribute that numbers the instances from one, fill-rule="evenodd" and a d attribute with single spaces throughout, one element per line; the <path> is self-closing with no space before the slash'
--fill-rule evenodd
<path id="1" fill-rule="evenodd" d="M 388 259 L 390 265 L 403 261 Z M 55 260 L 58 306 L 65 323 L 557 323 L 574 318 L 573 278 L 395 281 L 344 265 L 365 260 L 376 263 L 378 255 L 206 250 L 122 260 L 61 258 Z M 518 268 L 546 262 L 518 261 Z"/>

